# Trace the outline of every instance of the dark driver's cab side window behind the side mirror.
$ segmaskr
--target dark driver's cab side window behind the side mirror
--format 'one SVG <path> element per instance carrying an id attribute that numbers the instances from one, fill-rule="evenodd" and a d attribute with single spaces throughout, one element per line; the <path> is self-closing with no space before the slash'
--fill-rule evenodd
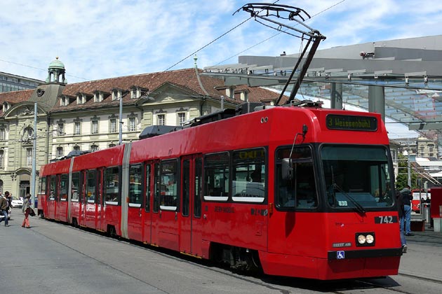
<path id="1" fill-rule="evenodd" d="M 289 158 L 291 147 L 276 151 L 276 205 L 282 209 L 314 209 L 318 206 L 312 150 L 309 146 L 293 148 L 293 179 L 282 179 L 281 162 Z"/>

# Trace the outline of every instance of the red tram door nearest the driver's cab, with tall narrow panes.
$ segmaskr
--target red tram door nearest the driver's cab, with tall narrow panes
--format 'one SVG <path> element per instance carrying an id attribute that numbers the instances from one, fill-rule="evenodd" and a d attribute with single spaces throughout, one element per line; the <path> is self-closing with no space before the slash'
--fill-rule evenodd
<path id="1" fill-rule="evenodd" d="M 201 155 L 181 161 L 180 251 L 201 256 Z"/>

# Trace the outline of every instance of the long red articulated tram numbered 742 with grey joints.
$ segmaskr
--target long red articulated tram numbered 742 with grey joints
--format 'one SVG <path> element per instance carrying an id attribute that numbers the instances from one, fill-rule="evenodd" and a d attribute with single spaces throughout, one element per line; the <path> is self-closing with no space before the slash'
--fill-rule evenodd
<path id="1" fill-rule="evenodd" d="M 43 166 L 39 213 L 266 274 L 398 273 L 379 114 L 312 103 L 234 114 Z"/>

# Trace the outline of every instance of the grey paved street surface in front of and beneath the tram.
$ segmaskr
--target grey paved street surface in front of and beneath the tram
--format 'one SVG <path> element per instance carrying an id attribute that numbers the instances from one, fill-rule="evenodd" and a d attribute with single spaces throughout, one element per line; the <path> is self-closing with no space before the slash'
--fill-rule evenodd
<path id="1" fill-rule="evenodd" d="M 237 274 L 194 258 L 39 218 L 0 225 L 0 293 L 440 293 L 442 234 L 415 232 L 399 276 L 319 283 Z"/>

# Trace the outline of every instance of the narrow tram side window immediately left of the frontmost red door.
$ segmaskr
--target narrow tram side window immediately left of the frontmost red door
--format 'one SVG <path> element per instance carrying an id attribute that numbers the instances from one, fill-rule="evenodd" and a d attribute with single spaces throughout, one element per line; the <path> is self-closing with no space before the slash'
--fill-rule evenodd
<path id="1" fill-rule="evenodd" d="M 165 160 L 160 167 L 160 207 L 163 210 L 177 210 L 178 197 L 178 161 Z"/>

